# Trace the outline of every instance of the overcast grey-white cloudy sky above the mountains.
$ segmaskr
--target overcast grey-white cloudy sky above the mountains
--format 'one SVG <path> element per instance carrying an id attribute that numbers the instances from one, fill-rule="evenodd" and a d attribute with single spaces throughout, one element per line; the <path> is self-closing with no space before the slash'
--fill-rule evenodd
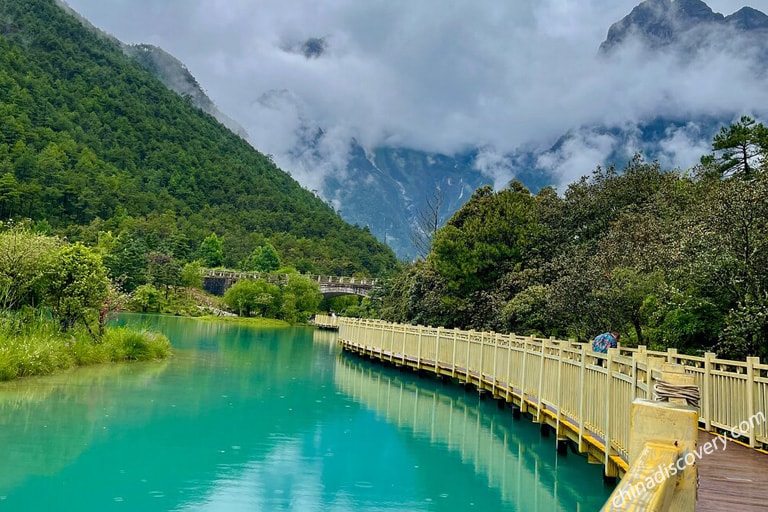
<path id="1" fill-rule="evenodd" d="M 307 188 L 343 167 L 350 137 L 447 154 L 484 148 L 483 169 L 503 184 L 502 155 L 549 147 L 570 129 L 627 125 L 655 114 L 741 111 L 768 105 L 746 66 L 707 57 L 679 62 L 628 54 L 596 59 L 610 25 L 638 0 L 67 0 L 127 43 L 160 46 L 184 62 L 225 114 Z M 710 0 L 716 12 L 768 0 Z M 321 54 L 302 45 L 315 38 Z M 302 128 L 326 132 L 322 162 L 290 157 Z M 692 165 L 707 145 L 696 126 L 668 134 L 669 165 Z M 577 130 L 543 155 L 563 180 L 615 146 Z M 486 164 L 483 164 L 486 165 Z"/>

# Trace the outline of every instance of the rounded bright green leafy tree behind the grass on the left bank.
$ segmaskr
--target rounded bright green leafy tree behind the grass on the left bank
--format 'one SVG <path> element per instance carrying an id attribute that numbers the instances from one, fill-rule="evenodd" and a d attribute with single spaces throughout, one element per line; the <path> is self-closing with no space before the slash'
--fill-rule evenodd
<path id="1" fill-rule="evenodd" d="M 63 327 L 71 327 L 77 320 L 88 326 L 88 313 L 100 309 L 108 293 L 107 270 L 97 252 L 79 242 L 58 251 L 46 297 Z"/>

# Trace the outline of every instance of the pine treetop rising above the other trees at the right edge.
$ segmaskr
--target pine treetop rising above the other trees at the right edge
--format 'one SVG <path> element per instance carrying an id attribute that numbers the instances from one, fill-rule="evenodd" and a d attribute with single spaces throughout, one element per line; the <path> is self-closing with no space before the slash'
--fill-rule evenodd
<path id="1" fill-rule="evenodd" d="M 714 169 L 723 178 L 750 179 L 768 156 L 768 128 L 749 116 L 741 116 L 738 123 L 720 129 L 712 149 L 712 154 L 701 159 L 705 168 Z"/>

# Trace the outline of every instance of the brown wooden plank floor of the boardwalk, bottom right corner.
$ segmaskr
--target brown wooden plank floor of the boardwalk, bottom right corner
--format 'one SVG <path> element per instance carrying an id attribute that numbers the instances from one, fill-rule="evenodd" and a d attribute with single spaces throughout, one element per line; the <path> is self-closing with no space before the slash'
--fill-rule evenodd
<path id="1" fill-rule="evenodd" d="M 699 446 L 712 437 L 700 431 Z M 697 512 L 768 510 L 768 454 L 729 442 L 727 449 L 704 455 L 698 466 Z"/>

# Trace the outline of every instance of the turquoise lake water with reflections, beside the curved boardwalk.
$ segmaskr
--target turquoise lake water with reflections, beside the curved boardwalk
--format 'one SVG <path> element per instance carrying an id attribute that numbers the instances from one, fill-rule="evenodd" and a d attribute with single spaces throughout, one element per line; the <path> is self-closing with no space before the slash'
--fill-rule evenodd
<path id="1" fill-rule="evenodd" d="M 128 315 L 160 363 L 0 384 L 0 510 L 592 511 L 601 467 L 336 334 Z"/>

